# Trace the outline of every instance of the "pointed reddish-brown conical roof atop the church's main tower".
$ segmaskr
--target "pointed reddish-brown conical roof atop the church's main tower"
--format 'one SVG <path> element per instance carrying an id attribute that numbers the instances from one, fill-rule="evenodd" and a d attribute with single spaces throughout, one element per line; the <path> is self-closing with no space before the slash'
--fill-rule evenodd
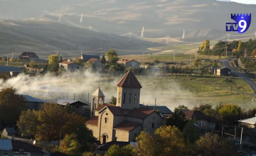
<path id="1" fill-rule="evenodd" d="M 142 85 L 139 83 L 138 79 L 132 73 L 131 70 L 122 77 L 122 79 L 117 84 L 118 87 L 129 87 L 129 88 L 142 88 Z"/>

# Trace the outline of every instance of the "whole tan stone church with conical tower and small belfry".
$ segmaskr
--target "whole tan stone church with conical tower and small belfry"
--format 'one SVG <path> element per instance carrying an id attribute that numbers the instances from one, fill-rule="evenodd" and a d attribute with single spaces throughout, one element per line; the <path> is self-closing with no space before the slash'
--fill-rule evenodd
<path id="1" fill-rule="evenodd" d="M 116 105 L 104 104 L 100 88 L 92 94 L 92 117 L 86 125 L 101 143 L 133 142 L 142 130 L 154 133 L 163 125 L 164 119 L 156 111 L 139 107 L 140 89 L 142 85 L 129 71 L 117 84 Z"/>

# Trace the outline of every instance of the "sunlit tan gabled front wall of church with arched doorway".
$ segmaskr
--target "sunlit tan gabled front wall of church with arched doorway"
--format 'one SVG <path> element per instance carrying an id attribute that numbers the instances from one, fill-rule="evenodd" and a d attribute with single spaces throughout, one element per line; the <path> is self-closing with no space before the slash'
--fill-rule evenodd
<path id="1" fill-rule="evenodd" d="M 112 133 L 113 133 L 113 123 L 114 123 L 114 115 L 111 113 L 111 111 L 107 108 L 102 113 L 99 113 L 99 121 L 98 125 L 101 128 L 99 130 L 100 133 L 100 142 L 102 143 L 102 136 L 107 135 L 107 142 L 112 141 Z"/>

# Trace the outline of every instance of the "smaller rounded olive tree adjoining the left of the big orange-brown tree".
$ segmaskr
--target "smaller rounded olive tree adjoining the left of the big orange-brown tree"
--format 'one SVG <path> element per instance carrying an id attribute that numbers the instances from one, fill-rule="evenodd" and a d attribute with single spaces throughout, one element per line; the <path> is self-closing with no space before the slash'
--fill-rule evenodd
<path id="1" fill-rule="evenodd" d="M 38 113 L 37 111 L 27 110 L 22 111 L 21 116 L 17 122 L 17 126 L 21 135 L 23 136 L 33 136 L 36 135 L 37 127 L 38 127 Z"/>

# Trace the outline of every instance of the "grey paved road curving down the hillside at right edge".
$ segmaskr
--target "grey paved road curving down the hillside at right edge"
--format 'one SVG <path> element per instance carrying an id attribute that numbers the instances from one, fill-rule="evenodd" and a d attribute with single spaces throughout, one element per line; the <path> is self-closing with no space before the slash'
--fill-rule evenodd
<path id="1" fill-rule="evenodd" d="M 247 82 L 247 84 L 249 84 L 252 89 L 255 91 L 255 94 L 252 94 L 252 96 L 256 97 L 256 83 L 254 81 L 252 81 L 252 79 L 250 79 L 250 77 L 247 76 L 247 74 L 242 73 L 242 72 L 238 72 L 238 70 L 234 69 L 233 67 L 231 67 L 229 65 L 228 60 L 220 60 L 220 62 L 225 66 L 228 67 L 229 69 L 231 69 L 231 73 L 237 75 L 238 77 L 241 77 L 242 79 L 245 80 L 245 82 Z"/>

